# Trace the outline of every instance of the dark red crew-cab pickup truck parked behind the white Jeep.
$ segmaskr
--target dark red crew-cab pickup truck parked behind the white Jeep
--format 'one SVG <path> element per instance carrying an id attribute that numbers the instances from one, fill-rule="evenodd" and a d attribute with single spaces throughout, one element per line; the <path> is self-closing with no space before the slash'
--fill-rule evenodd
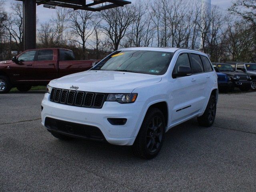
<path id="1" fill-rule="evenodd" d="M 74 53 L 64 48 L 26 50 L 0 62 L 0 94 L 12 87 L 25 92 L 31 86 L 47 85 L 50 80 L 88 70 L 93 62 L 97 60 L 75 60 Z"/>

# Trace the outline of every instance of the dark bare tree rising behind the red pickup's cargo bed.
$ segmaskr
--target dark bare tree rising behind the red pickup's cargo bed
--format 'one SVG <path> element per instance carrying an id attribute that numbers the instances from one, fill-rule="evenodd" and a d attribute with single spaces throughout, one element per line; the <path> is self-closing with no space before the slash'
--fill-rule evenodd
<path id="1" fill-rule="evenodd" d="M 93 29 L 93 12 L 86 10 L 77 10 L 69 13 L 69 27 L 71 34 L 75 37 L 71 40 L 82 46 L 83 57 L 85 59 L 86 41 L 92 35 Z M 79 38 L 79 39 L 77 39 Z"/>

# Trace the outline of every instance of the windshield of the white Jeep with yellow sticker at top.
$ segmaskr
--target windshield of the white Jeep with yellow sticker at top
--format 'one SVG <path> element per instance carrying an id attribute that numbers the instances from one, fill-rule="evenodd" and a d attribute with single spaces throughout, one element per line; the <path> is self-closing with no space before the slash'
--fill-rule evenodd
<path id="1" fill-rule="evenodd" d="M 172 52 L 160 51 L 116 51 L 99 62 L 92 70 L 162 75 L 168 69 L 173 55 Z"/>

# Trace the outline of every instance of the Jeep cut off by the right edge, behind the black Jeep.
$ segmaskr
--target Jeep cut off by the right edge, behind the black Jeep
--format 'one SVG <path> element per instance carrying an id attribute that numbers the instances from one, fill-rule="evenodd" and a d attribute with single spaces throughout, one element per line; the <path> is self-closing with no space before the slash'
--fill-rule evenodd
<path id="1" fill-rule="evenodd" d="M 252 78 L 252 90 L 256 91 L 256 63 L 226 62 L 237 72 L 244 72 Z"/>

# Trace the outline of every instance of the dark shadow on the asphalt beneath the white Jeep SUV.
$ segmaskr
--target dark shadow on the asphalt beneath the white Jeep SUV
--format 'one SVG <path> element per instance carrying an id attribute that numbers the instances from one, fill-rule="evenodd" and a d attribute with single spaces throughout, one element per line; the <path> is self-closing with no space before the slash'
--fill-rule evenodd
<path id="1" fill-rule="evenodd" d="M 191 152 L 191 149 L 182 148 L 185 142 L 193 144 L 200 140 L 200 135 L 197 135 L 197 132 L 202 132 L 204 129 L 198 126 L 196 119 L 189 120 L 183 124 L 180 124 L 166 133 L 164 145 L 160 152 L 160 156 L 154 159 L 163 158 L 176 158 L 173 156 L 176 153 L 188 153 Z M 58 153 L 64 154 L 72 154 L 75 152 L 75 156 L 91 156 L 97 157 L 98 160 L 101 159 L 111 160 L 113 158 L 120 159 L 122 161 L 130 161 L 130 159 L 134 159 L 136 161 L 140 161 L 140 158 L 137 158 L 132 153 L 131 146 L 116 146 L 112 144 L 108 144 L 107 142 L 94 142 L 89 140 L 79 140 L 74 139 L 71 141 L 61 141 L 61 140 L 54 140 L 52 142 L 53 146 L 59 146 L 60 148 L 64 148 L 64 151 L 58 151 Z M 58 150 L 58 147 L 56 148 Z M 168 154 L 166 156 L 166 153 Z M 162 154 L 162 155 L 161 155 Z M 93 158 L 94 159 L 94 158 Z M 170 159 L 171 160 L 171 159 Z M 173 159 L 175 160 L 175 159 Z M 144 161 L 144 160 L 142 160 Z"/>

